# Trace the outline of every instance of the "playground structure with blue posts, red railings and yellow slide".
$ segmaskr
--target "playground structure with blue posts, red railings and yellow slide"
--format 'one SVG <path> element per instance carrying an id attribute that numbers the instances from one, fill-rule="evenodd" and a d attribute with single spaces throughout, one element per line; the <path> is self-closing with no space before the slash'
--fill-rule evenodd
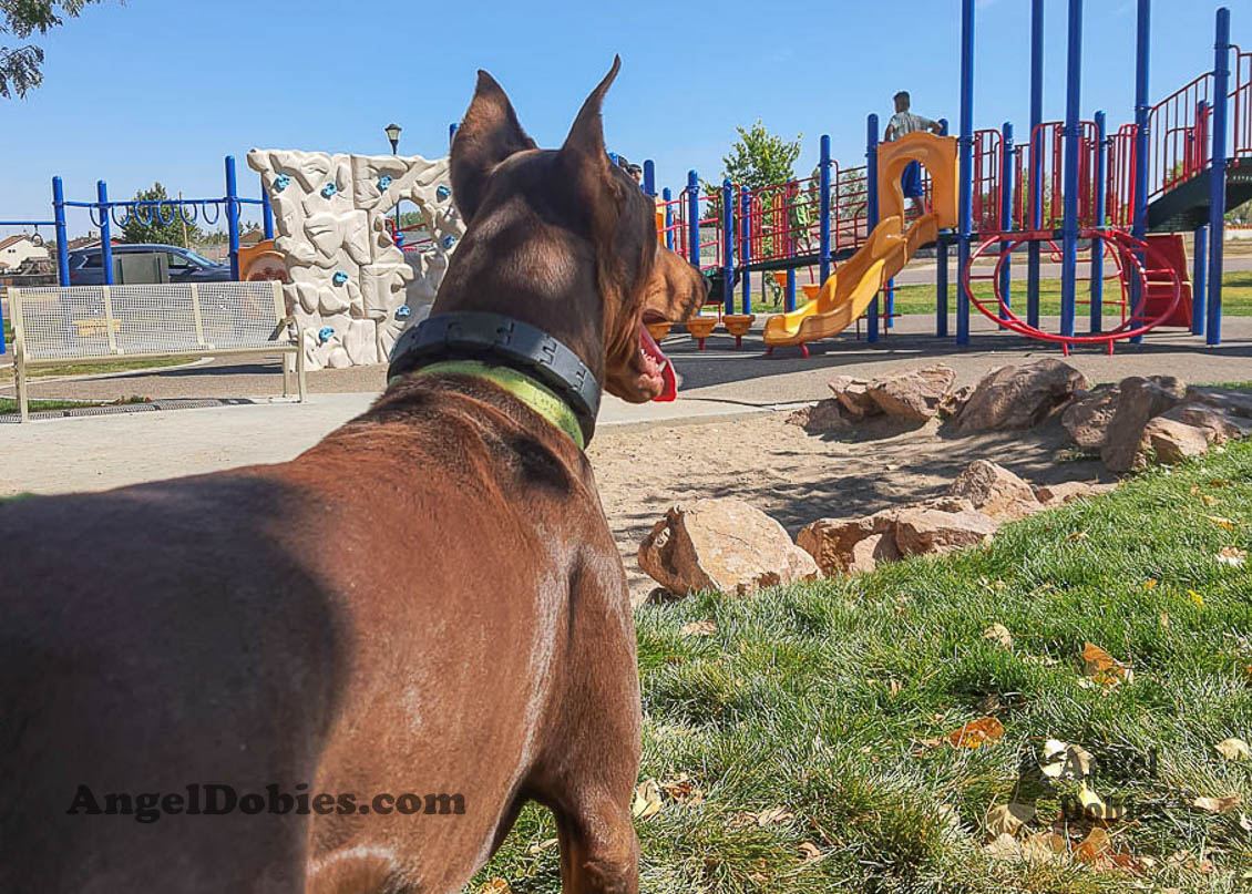
<path id="1" fill-rule="evenodd" d="M 1211 346 L 1221 343 L 1223 214 L 1252 199 L 1252 53 L 1231 44 L 1229 11 L 1217 11 L 1213 69 L 1152 105 L 1151 0 L 1137 0 L 1134 120 L 1109 131 L 1103 111 L 1090 120 L 1079 114 L 1082 0 L 1068 0 L 1065 119 L 1043 120 L 1043 0 L 1032 0 L 1030 129 L 1019 145 L 1010 123 L 973 126 L 975 1 L 960 4 L 958 136 L 910 134 L 881 144 L 879 119 L 871 114 L 864 165 L 841 168 L 823 136 L 811 178 L 759 189 L 724 180 L 720 192 L 707 194 L 692 170 L 676 198 L 670 189 L 661 192 L 660 238 L 714 279 L 717 316 L 689 324 L 701 347 L 719 319 L 741 341 L 744 321 L 752 319 L 751 273 L 774 274 L 784 289 L 786 312 L 765 326 L 770 349 L 799 346 L 808 356 L 805 343 L 860 319 L 866 339 L 876 342 L 896 316 L 891 277 L 928 244 L 938 262 L 938 337 L 948 336 L 948 253 L 957 248 L 960 346 L 969 343 L 970 306 L 1000 329 L 1057 343 L 1067 353 L 1083 344 L 1112 352 L 1116 341 L 1138 342 L 1157 327 L 1184 327 Z M 947 135 L 948 123 L 942 126 Z M 911 220 L 903 213 L 899 187 L 908 160 L 919 160 L 926 175 L 925 209 Z M 647 164 L 644 187 L 656 195 Z M 1193 234 L 1191 269 L 1181 232 Z M 1012 278 L 1019 248 L 1028 265 L 1024 317 L 1015 312 Z M 1078 275 L 1080 250 L 1089 277 Z M 977 262 L 990 254 L 999 260 L 985 274 Z M 1059 332 L 1040 327 L 1045 255 L 1062 264 Z M 836 272 L 839 259 L 846 260 Z M 796 273 L 805 269 L 811 301 L 796 311 Z M 980 280 L 994 298 L 979 294 Z M 1075 331 L 1082 280 L 1088 282 L 1085 333 Z M 1106 297 L 1109 284 L 1116 294 Z M 1121 317 L 1119 324 L 1106 328 L 1108 311 Z"/>

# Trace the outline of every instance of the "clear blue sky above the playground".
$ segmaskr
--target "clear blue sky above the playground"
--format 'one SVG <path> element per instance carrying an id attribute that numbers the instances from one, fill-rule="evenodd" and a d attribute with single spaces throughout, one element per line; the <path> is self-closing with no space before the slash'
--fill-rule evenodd
<path id="1" fill-rule="evenodd" d="M 1213 0 L 1156 0 L 1152 95 L 1212 66 Z M 1236 43 L 1252 45 L 1252 3 L 1228 1 Z M 1134 0 L 1088 0 L 1083 108 L 1129 120 Z M 1065 0 L 1048 0 L 1045 116 L 1064 114 Z M 354 9 L 368 10 L 353 18 Z M 652 158 L 659 185 L 689 168 L 721 173 L 735 125 L 760 118 L 804 134 L 798 170 L 831 135 L 845 164 L 864 157 L 865 115 L 890 114 L 899 89 L 931 118 L 958 116 L 957 0 L 825 3 L 331 3 L 328 0 L 115 0 L 89 8 L 44 41 L 44 85 L 0 100 L 5 189 L 0 219 L 50 217 L 53 174 L 66 197 L 113 198 L 153 180 L 172 193 L 220 195 L 222 158 L 259 189 L 253 146 L 446 152 L 486 68 L 540 145 L 558 145 L 613 53 L 610 148 Z M 4 35 L 9 36 L 9 35 Z M 11 43 L 11 41 L 10 41 Z M 975 126 L 1028 118 L 1028 0 L 978 0 Z M 85 217 L 71 220 L 84 232 Z"/>

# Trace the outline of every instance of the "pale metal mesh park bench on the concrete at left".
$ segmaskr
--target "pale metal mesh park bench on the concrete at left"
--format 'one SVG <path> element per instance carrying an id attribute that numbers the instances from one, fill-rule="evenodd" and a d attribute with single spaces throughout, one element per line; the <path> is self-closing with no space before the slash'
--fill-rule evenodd
<path id="1" fill-rule="evenodd" d="M 14 378 L 21 421 L 28 369 L 154 357 L 283 353 L 283 394 L 304 401 L 303 333 L 283 304 L 282 283 L 174 283 L 10 289 Z"/>

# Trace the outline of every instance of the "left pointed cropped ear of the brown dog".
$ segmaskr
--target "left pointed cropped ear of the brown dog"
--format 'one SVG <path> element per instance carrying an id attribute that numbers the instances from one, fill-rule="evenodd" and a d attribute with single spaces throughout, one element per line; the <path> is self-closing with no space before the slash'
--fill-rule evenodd
<path id="1" fill-rule="evenodd" d="M 503 88 L 478 69 L 478 86 L 452 138 L 449 160 L 452 199 L 462 220 L 470 223 L 482 204 L 491 169 L 523 149 L 535 149 L 535 140 L 517 123 Z"/>

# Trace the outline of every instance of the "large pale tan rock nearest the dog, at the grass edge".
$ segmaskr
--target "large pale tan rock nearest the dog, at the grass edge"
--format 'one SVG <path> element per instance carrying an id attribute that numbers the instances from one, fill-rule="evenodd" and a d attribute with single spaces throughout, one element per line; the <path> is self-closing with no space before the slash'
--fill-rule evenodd
<path id="1" fill-rule="evenodd" d="M 781 525 L 735 498 L 671 507 L 640 543 L 639 565 L 677 593 L 746 592 L 818 575 Z"/>

